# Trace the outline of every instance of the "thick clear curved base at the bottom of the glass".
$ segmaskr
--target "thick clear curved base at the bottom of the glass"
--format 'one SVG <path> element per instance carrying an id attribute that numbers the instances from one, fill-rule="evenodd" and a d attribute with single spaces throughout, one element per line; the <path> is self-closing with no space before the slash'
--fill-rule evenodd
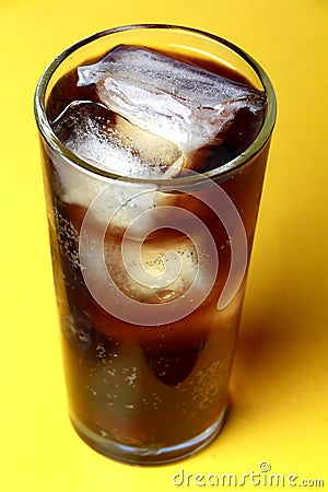
<path id="1" fill-rule="evenodd" d="M 218 420 L 210 427 L 191 440 L 175 446 L 149 448 L 127 446 L 114 441 L 108 441 L 108 438 L 90 430 L 79 419 L 70 414 L 74 430 L 90 447 L 108 458 L 131 465 L 161 465 L 186 458 L 187 456 L 199 452 L 216 437 L 223 426 L 224 418 L 225 409 L 223 409 Z"/>

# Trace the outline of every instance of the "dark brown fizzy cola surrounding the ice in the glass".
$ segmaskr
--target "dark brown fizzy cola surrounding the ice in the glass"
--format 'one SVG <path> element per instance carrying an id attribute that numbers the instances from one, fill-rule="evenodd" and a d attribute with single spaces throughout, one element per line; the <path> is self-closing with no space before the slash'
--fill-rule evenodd
<path id="1" fill-rule="evenodd" d="M 192 62 L 242 79 L 215 63 Z M 71 101 L 97 101 L 93 86 L 78 87 L 75 83 L 75 72 L 57 83 L 48 103 L 50 120 Z M 223 148 L 206 153 L 203 168 L 238 154 L 258 133 L 262 117 L 255 121 L 249 112 L 241 112 Z M 262 152 L 251 166 L 222 185 L 243 218 L 249 253 L 265 163 Z M 215 241 L 220 256 L 215 285 L 198 309 L 171 325 L 128 324 L 103 309 L 85 286 L 78 260 L 85 209 L 62 199 L 56 168 L 49 159 L 45 165 L 55 197 L 48 204 L 50 238 L 72 420 L 102 438 L 143 448 L 176 446 L 196 437 L 215 423 L 225 407 L 241 315 L 244 284 L 231 306 L 216 309 L 231 261 L 223 224 L 196 198 L 178 197 L 177 206 L 197 213 Z M 171 234 L 174 248 L 177 234 Z M 159 232 L 149 242 L 160 249 L 163 237 Z M 169 243 L 169 232 L 165 238 Z M 109 250 L 120 241 L 120 234 L 107 233 Z"/>

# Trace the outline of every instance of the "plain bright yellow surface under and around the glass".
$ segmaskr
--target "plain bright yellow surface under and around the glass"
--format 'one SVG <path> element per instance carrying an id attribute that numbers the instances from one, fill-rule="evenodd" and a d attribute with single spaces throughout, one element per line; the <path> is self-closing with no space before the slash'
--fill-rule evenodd
<path id="1" fill-rule="evenodd" d="M 296 487 L 321 479 L 312 490 L 328 490 L 327 17 L 325 0 L 1 0 L 1 491 L 224 490 L 195 475 L 254 470 L 263 482 L 261 461 L 298 476 Z M 68 421 L 32 110 L 37 79 L 61 49 L 138 22 L 238 44 L 279 101 L 227 423 L 204 452 L 153 468 L 97 455 Z M 178 487 L 181 469 L 192 478 Z"/>

